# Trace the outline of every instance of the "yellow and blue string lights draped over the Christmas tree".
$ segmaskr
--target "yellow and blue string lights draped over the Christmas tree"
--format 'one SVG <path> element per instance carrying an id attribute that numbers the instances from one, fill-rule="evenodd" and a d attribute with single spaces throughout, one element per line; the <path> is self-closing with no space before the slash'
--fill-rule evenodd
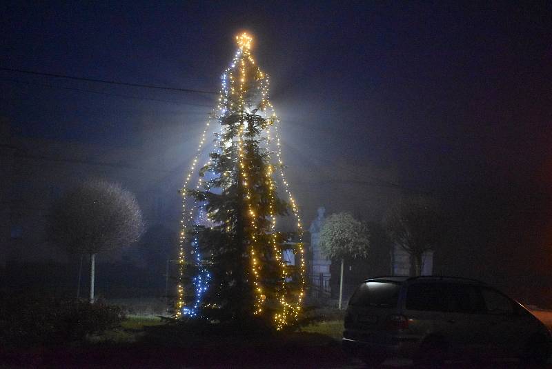
<path id="1" fill-rule="evenodd" d="M 289 190 L 288 181 L 286 180 L 284 170 L 283 170 L 283 162 L 282 162 L 282 150 L 280 148 L 280 139 L 278 134 L 278 124 L 279 119 L 277 118 L 274 108 L 270 101 L 268 100 L 268 90 L 269 90 L 269 81 L 268 76 L 264 74 L 257 66 L 255 66 L 255 60 L 250 54 L 250 48 L 253 43 L 253 38 L 250 37 L 248 34 L 243 33 L 236 37 L 238 50 L 235 54 L 235 57 L 230 64 L 230 68 L 226 69 L 224 74 L 222 75 L 222 87 L 219 95 L 219 101 L 217 106 L 217 112 L 218 114 L 213 114 L 213 117 L 218 119 L 224 119 L 224 117 L 227 116 L 228 113 L 238 110 L 239 111 L 239 123 L 237 134 L 234 134 L 233 137 L 236 138 L 236 140 L 228 139 L 226 142 L 218 141 L 217 148 L 221 148 L 224 145 L 224 148 L 228 149 L 232 146 L 235 146 L 237 153 L 235 157 L 235 163 L 237 164 L 237 171 L 238 171 L 238 177 L 237 181 L 239 181 L 239 186 L 242 188 L 243 193 L 243 200 L 244 200 L 244 206 L 245 206 L 245 214 L 248 218 L 248 234 L 246 235 L 248 237 L 248 246 L 249 246 L 249 258 L 250 258 L 250 279 L 253 282 L 253 292 L 254 292 L 254 306 L 253 306 L 253 313 L 255 315 L 261 314 L 263 312 L 263 306 L 266 301 L 266 295 L 264 295 L 264 287 L 262 286 L 262 276 L 261 276 L 261 270 L 262 270 L 262 263 L 263 260 L 263 252 L 262 252 L 262 242 L 266 241 L 266 238 L 262 237 L 264 235 L 264 227 L 266 227 L 266 222 L 268 221 L 268 232 L 270 233 L 269 237 L 269 243 L 272 252 L 273 252 L 273 259 L 275 259 L 276 263 L 279 265 L 280 272 L 279 272 L 279 283 L 277 283 L 276 289 L 275 289 L 275 300 L 279 303 L 279 310 L 274 315 L 275 325 L 277 329 L 281 329 L 284 326 L 292 323 L 293 320 L 296 320 L 299 311 L 302 307 L 302 299 L 304 296 L 304 288 L 305 288 L 305 261 L 304 261 L 304 247 L 302 243 L 302 237 L 303 237 L 303 228 L 302 228 L 302 221 L 299 217 L 299 210 L 297 208 L 297 203 L 295 203 L 295 199 L 291 195 L 291 192 Z M 254 72 L 254 77 L 251 74 L 248 74 L 248 71 L 252 70 Z M 251 79 L 253 77 L 253 79 Z M 266 142 L 267 142 L 267 148 L 266 151 L 268 152 L 268 165 L 266 165 L 266 170 L 263 173 L 264 175 L 264 182 L 267 184 L 268 188 L 268 216 L 263 215 L 262 211 L 259 211 L 255 208 L 255 204 L 253 203 L 253 192 L 254 188 L 252 186 L 255 186 L 255 183 L 253 183 L 254 180 L 254 174 L 250 172 L 250 163 L 248 157 L 250 154 L 250 150 L 254 150 L 254 148 L 251 146 L 251 141 L 253 140 L 253 137 L 255 135 L 259 134 L 262 137 L 261 133 L 256 133 L 251 131 L 251 125 L 252 123 L 248 121 L 246 118 L 248 114 L 252 114 L 252 110 L 250 107 L 253 105 L 252 101 L 250 101 L 250 95 L 248 93 L 253 90 L 250 88 L 250 85 L 252 83 L 259 83 L 259 90 L 260 90 L 260 101 L 257 103 L 257 109 L 255 109 L 255 114 L 257 112 L 260 112 L 264 114 L 264 119 L 268 123 L 266 126 Z M 237 106 L 235 106 L 235 102 L 237 101 Z M 268 110 L 270 110 L 271 114 L 267 114 Z M 215 110 L 214 110 L 215 111 Z M 258 115 L 258 114 L 257 114 Z M 197 158 L 199 156 L 199 152 L 201 151 L 201 147 L 204 144 L 205 134 L 206 130 L 208 129 L 208 126 L 210 124 L 210 120 L 207 123 L 207 127 L 204 130 L 204 133 L 201 137 L 199 148 L 197 150 L 197 153 L 195 155 L 195 159 L 193 160 L 193 164 L 190 168 L 190 172 L 188 172 L 188 175 L 186 177 L 186 180 L 184 181 L 184 188 L 188 185 L 188 182 L 190 181 L 190 177 L 193 174 L 193 171 L 195 170 L 195 166 L 197 163 Z M 270 136 L 270 126 L 274 126 L 274 138 Z M 247 130 L 246 130 L 247 128 Z M 219 137 L 224 137 L 223 133 L 227 134 L 227 137 L 232 137 L 232 134 L 230 132 L 230 126 L 227 126 L 225 128 L 226 130 L 223 131 L 222 125 L 221 125 L 221 133 L 219 134 Z M 272 163 L 272 157 L 271 157 L 271 151 L 270 151 L 270 143 L 273 141 L 273 139 L 276 141 L 277 144 L 277 150 L 276 150 L 276 160 L 277 165 L 274 165 Z M 229 158 L 230 159 L 230 158 Z M 210 166 L 211 161 L 209 160 L 206 166 Z M 279 249 L 278 245 L 278 234 L 276 232 L 276 196 L 277 196 L 277 189 L 276 189 L 276 182 L 273 177 L 276 175 L 276 171 L 279 171 L 279 177 L 284 183 L 284 190 L 286 192 L 286 195 L 288 195 L 290 208 L 293 211 L 293 216 L 295 219 L 295 226 L 298 230 L 299 235 L 299 242 L 297 243 L 297 253 L 299 254 L 299 292 L 297 293 L 291 293 L 288 288 L 288 283 L 291 283 L 293 279 L 290 276 L 290 273 L 288 272 L 288 268 L 286 265 L 286 261 L 284 260 L 282 256 L 282 250 Z M 230 173 L 224 172 L 221 173 L 221 176 L 228 177 Z M 197 190 L 199 190 L 201 186 L 201 178 L 198 181 L 197 184 Z M 199 208 L 199 218 L 201 218 L 201 211 L 202 208 Z M 186 201 L 183 201 L 183 217 L 182 217 L 182 231 L 181 231 L 181 238 L 180 238 L 180 254 L 179 254 L 179 265 L 181 266 L 180 275 L 181 277 L 184 275 L 183 268 L 184 268 L 184 240 L 186 237 L 186 230 L 185 230 L 185 218 L 186 215 L 188 216 L 188 221 L 192 221 L 193 219 L 193 209 L 190 209 L 188 212 L 186 210 Z M 268 218 L 268 219 L 267 219 Z M 226 226 L 226 230 L 230 230 L 230 225 Z M 198 266 L 201 266 L 201 256 L 199 255 L 199 240 L 197 238 L 197 235 L 193 238 L 191 242 L 195 256 L 196 256 L 196 263 Z M 266 257 L 266 256 L 265 256 Z M 204 273 L 204 274 L 202 274 Z M 204 279 L 208 279 L 208 273 L 206 270 L 201 269 L 200 267 L 200 273 L 197 277 L 195 277 L 194 286 L 196 289 L 196 296 L 197 299 L 193 303 L 193 306 L 190 307 L 184 307 L 184 286 L 182 286 L 181 283 L 178 285 L 178 291 L 179 291 L 179 299 L 177 302 L 177 316 L 179 314 L 184 313 L 185 315 L 190 316 L 196 316 L 198 314 L 198 308 L 200 306 L 200 297 L 201 294 L 206 290 L 207 288 L 207 281 Z"/>

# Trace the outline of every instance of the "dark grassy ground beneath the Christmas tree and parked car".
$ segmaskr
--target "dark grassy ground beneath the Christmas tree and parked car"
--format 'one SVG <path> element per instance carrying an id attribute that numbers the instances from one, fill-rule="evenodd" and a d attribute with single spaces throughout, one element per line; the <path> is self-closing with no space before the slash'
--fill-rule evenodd
<path id="1" fill-rule="evenodd" d="M 552 328 L 552 311 L 535 315 Z M 344 355 L 339 340 L 342 318 L 327 314 L 295 332 L 275 335 L 219 334 L 166 328 L 155 316 L 129 316 L 121 328 L 88 337 L 86 343 L 57 348 L 0 351 L 1 367 L 72 368 L 362 368 Z M 477 364 L 484 368 L 517 368 L 515 361 Z M 408 360 L 388 360 L 381 368 L 411 367 Z M 473 368 L 474 363 L 449 363 L 447 368 Z M 549 366 L 552 368 L 552 361 Z"/>

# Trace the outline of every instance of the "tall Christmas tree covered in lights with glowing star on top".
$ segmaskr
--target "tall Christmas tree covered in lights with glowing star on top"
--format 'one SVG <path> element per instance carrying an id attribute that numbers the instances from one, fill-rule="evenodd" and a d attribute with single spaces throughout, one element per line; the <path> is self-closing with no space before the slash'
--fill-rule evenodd
<path id="1" fill-rule="evenodd" d="M 268 76 L 255 65 L 251 43 L 248 34 L 237 37 L 238 50 L 222 76 L 218 106 L 184 183 L 182 193 L 196 206 L 187 210 L 184 201 L 177 317 L 199 315 L 219 321 L 258 317 L 280 329 L 297 319 L 302 306 L 303 231 L 284 176 Z M 190 188 L 211 121 L 220 124 L 216 150 L 199 169 L 197 186 Z M 278 188 L 287 201 L 279 197 Z M 288 213 L 295 217 L 298 243 L 284 243 L 289 235 L 276 230 L 277 217 Z M 197 214 L 208 220 L 193 221 Z M 196 259 L 190 262 L 185 252 L 188 243 Z M 284 259 L 284 252 L 290 251 L 297 265 Z"/>

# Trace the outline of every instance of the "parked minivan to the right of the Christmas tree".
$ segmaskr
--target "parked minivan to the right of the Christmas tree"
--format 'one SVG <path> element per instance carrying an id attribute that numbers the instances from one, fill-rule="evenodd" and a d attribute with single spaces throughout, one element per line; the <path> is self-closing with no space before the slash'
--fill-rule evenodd
<path id="1" fill-rule="evenodd" d="M 480 281 L 378 277 L 362 283 L 346 311 L 343 348 L 366 363 L 388 357 L 417 364 L 519 357 L 544 363 L 552 336 L 520 303 Z"/>

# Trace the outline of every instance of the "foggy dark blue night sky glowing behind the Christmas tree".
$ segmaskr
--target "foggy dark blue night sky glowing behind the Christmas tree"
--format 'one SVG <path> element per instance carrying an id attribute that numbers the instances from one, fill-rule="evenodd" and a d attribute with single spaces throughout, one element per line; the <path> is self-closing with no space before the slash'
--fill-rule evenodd
<path id="1" fill-rule="evenodd" d="M 213 91 L 248 30 L 292 178 L 348 162 L 440 195 L 497 189 L 514 232 L 531 223 L 535 247 L 552 251 L 550 3 L 12 2 L 1 12 L 1 67 Z M 1 70 L 0 83 L 16 134 L 132 146 L 149 121 L 180 137 L 175 161 L 186 165 L 215 101 Z M 302 180 L 324 193 L 324 175 Z"/>

